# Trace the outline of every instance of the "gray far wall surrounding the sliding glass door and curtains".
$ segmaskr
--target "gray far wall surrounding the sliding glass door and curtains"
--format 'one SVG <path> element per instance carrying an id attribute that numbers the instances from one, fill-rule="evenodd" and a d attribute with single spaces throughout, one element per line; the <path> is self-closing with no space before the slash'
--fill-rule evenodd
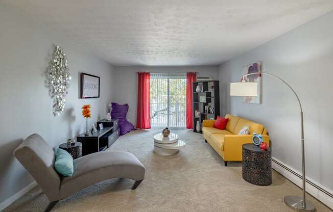
<path id="1" fill-rule="evenodd" d="M 116 95 L 112 101 L 117 103 L 128 103 L 129 111 L 127 119 L 135 126 L 137 107 L 137 71 L 150 71 L 151 73 L 186 73 L 186 71 L 197 71 L 198 76 L 212 76 L 217 80 L 219 66 L 116 66 L 114 75 L 114 88 Z"/>

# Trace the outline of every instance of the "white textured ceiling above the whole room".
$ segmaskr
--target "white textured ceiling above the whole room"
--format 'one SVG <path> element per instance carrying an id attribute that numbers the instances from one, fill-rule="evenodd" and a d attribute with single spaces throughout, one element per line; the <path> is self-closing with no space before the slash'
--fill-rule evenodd
<path id="1" fill-rule="evenodd" d="M 218 65 L 332 0 L 4 0 L 113 65 Z"/>

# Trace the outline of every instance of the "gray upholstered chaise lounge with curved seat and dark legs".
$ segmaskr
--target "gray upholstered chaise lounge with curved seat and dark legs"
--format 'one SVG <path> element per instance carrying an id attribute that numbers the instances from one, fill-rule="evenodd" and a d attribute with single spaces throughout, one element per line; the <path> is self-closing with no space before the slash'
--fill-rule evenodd
<path id="1" fill-rule="evenodd" d="M 50 211 L 59 200 L 106 179 L 133 179 L 132 189 L 136 189 L 146 172 L 144 165 L 129 152 L 103 151 L 74 160 L 72 177 L 59 176 L 54 169 L 55 152 L 38 134 L 23 141 L 14 155 L 49 198 L 50 204 L 45 211 Z"/>

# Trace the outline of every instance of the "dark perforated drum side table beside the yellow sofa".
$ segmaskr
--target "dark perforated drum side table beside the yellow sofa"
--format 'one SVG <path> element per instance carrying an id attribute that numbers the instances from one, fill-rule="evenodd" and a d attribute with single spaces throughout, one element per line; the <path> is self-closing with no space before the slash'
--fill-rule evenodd
<path id="1" fill-rule="evenodd" d="M 271 147 L 261 150 L 254 144 L 243 144 L 243 179 L 257 186 L 272 184 Z"/>

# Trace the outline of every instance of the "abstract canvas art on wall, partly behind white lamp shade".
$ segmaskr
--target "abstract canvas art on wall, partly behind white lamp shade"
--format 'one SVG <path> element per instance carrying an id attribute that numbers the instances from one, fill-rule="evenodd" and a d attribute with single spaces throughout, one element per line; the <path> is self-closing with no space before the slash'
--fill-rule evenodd
<path id="1" fill-rule="evenodd" d="M 255 73 L 255 72 L 261 72 L 261 61 L 244 66 L 242 68 L 242 75 L 249 74 L 249 73 Z M 246 76 L 245 80 L 246 80 L 246 82 L 258 83 L 258 96 L 243 97 L 243 102 L 260 104 L 261 103 L 261 74 L 253 74 L 253 75 Z"/>

